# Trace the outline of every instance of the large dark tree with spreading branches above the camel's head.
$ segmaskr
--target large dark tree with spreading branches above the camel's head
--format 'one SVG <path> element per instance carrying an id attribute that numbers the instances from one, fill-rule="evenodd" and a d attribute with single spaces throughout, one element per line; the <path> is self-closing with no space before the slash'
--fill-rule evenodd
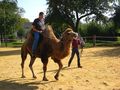
<path id="1" fill-rule="evenodd" d="M 102 20 L 116 0 L 47 0 L 47 21 L 65 22 L 77 32 L 81 19 L 94 15 Z M 53 19 L 54 18 L 54 19 Z"/>

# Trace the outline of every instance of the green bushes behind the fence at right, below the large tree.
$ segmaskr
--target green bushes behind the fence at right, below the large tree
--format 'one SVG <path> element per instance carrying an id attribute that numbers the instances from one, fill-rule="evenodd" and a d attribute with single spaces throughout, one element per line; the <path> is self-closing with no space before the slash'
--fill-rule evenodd
<path id="1" fill-rule="evenodd" d="M 107 23 L 107 24 L 99 24 L 97 22 L 90 22 L 88 24 L 80 25 L 79 32 L 81 36 L 105 36 L 105 37 L 115 37 L 115 38 L 97 38 L 99 40 L 109 40 L 109 41 L 116 41 L 119 35 L 119 30 L 114 28 L 114 24 Z"/>

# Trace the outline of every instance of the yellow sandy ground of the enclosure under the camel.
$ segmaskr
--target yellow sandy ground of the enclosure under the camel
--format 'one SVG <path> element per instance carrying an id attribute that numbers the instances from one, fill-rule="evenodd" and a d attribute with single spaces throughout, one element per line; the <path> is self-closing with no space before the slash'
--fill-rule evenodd
<path id="1" fill-rule="evenodd" d="M 83 68 L 77 68 L 77 58 L 67 67 L 70 56 L 62 60 L 59 80 L 54 79 L 57 64 L 49 60 L 47 78 L 42 81 L 40 59 L 33 65 L 37 79 L 33 79 L 28 55 L 25 63 L 26 78 L 21 78 L 20 48 L 0 48 L 0 90 L 120 90 L 120 47 L 95 47 L 84 49 Z"/>

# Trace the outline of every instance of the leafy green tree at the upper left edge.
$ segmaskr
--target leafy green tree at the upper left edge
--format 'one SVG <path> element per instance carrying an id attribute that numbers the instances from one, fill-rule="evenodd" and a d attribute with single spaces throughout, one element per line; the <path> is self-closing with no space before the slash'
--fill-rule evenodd
<path id="1" fill-rule="evenodd" d="M 17 29 L 17 24 L 24 10 L 17 6 L 17 0 L 0 1 L 0 35 L 6 39 Z"/>

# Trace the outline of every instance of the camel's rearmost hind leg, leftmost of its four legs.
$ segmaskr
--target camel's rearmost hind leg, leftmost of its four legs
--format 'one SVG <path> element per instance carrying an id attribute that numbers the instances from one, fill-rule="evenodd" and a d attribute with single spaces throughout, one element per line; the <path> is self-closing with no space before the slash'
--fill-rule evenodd
<path id="1" fill-rule="evenodd" d="M 27 57 L 27 49 L 24 49 L 23 47 L 21 48 L 21 58 L 22 58 L 22 62 L 21 62 L 21 68 L 22 68 L 22 78 L 25 78 L 24 75 L 24 63 Z"/>

